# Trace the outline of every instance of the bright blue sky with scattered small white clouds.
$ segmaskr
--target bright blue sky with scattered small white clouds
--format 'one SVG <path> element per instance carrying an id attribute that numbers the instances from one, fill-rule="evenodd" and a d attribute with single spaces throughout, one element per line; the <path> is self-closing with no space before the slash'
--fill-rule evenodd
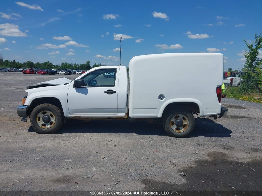
<path id="1" fill-rule="evenodd" d="M 137 55 L 215 52 L 224 54 L 224 69 L 241 69 L 243 39 L 262 31 L 261 6 L 259 0 L 3 1 L 0 53 L 19 62 L 118 65 L 122 37 L 125 66 Z"/>

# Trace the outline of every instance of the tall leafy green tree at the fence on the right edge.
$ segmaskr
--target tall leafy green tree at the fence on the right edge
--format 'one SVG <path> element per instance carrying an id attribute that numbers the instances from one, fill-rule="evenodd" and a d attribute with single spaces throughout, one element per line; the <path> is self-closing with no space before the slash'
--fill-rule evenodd
<path id="1" fill-rule="evenodd" d="M 243 93 L 249 93 L 258 88 L 262 90 L 262 77 L 260 77 L 262 59 L 258 58 L 259 50 L 262 48 L 261 34 L 262 32 L 259 35 L 255 34 L 255 40 L 251 44 L 244 40 L 248 50 L 244 53 L 246 74 L 242 77 L 241 90 Z"/>

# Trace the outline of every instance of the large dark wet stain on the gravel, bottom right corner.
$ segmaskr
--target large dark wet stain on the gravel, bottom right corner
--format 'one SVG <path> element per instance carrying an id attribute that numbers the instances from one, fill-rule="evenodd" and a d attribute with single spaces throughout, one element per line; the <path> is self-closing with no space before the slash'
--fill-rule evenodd
<path id="1" fill-rule="evenodd" d="M 145 190 L 220 190 L 220 191 L 261 191 L 262 165 L 261 159 L 240 163 L 231 159 L 229 155 L 211 151 L 208 159 L 194 161 L 196 166 L 180 168 L 186 176 L 182 176 L 186 183 L 181 185 L 165 182 L 142 180 Z M 238 165 L 240 164 L 240 165 Z M 247 166 L 247 167 L 246 167 Z M 254 170 L 255 171 L 254 171 Z M 261 192 L 260 192 L 261 193 Z M 247 194 L 246 194 L 247 195 Z M 255 194 L 256 195 L 256 194 Z"/>

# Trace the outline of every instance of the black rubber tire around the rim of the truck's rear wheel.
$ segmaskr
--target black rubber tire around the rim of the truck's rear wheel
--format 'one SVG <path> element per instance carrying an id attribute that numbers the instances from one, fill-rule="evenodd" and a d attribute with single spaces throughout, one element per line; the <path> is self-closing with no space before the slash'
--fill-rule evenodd
<path id="1" fill-rule="evenodd" d="M 188 120 L 188 126 L 187 128 L 182 131 L 178 132 L 179 130 L 175 131 L 171 128 L 171 119 L 174 117 L 177 117 L 178 115 L 183 115 L 187 118 Z M 178 118 L 179 119 L 179 118 Z M 181 119 L 183 121 L 183 118 Z M 184 125 L 183 125 L 184 126 Z M 192 131 L 195 126 L 195 118 L 190 112 L 186 111 L 169 111 L 163 116 L 163 127 L 165 131 L 167 132 L 168 135 L 172 137 L 187 137 Z M 179 128 L 179 127 L 178 127 Z M 183 127 L 181 127 L 183 128 Z"/>

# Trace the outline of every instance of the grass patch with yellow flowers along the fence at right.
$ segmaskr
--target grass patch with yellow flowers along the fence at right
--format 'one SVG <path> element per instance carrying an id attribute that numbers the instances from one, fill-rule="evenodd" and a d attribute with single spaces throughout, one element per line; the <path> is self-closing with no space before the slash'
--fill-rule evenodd
<path id="1" fill-rule="evenodd" d="M 241 99 L 243 101 L 262 103 L 262 95 L 259 94 L 258 90 L 251 91 L 248 94 L 243 94 L 239 87 L 236 86 L 226 86 L 225 93 L 226 97 Z"/>

